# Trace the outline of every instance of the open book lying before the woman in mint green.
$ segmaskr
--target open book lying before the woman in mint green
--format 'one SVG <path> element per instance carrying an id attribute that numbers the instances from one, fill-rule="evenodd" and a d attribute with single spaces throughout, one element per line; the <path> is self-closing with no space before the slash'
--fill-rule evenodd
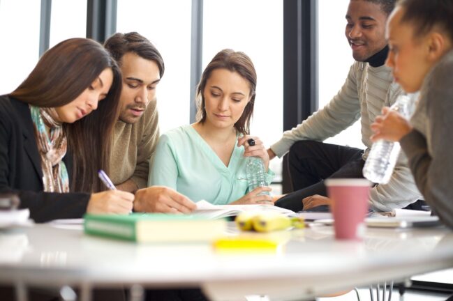
<path id="1" fill-rule="evenodd" d="M 283 213 L 284 215 L 295 214 L 295 212 L 292 210 L 280 208 L 273 205 L 214 205 L 209 203 L 208 201 L 201 200 L 197 202 L 197 209 L 193 211 L 192 215 L 218 219 L 222 217 L 239 215 L 239 213 L 243 213 L 245 211 L 273 211 Z"/>

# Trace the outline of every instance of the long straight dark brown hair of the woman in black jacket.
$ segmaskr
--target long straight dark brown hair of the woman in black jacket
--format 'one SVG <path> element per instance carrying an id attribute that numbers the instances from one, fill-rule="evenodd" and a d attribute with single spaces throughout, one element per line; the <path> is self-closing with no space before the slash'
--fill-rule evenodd
<path id="1" fill-rule="evenodd" d="M 36 107 L 61 107 L 75 100 L 105 68 L 112 70 L 113 82 L 98 109 L 75 123 L 64 123 L 68 153 L 73 155 L 71 191 L 105 189 L 97 171 L 108 170 L 112 131 L 119 116 L 121 72 L 117 63 L 94 40 L 64 40 L 47 50 L 27 79 L 10 93 Z"/>

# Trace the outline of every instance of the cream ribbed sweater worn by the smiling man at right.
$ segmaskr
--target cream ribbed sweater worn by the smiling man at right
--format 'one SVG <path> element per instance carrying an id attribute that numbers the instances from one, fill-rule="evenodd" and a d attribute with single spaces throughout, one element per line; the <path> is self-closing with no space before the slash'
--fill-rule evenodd
<path id="1" fill-rule="evenodd" d="M 285 131 L 283 137 L 271 146 L 272 151 L 282 157 L 296 141 L 323 141 L 361 118 L 362 142 L 367 148 L 364 153 L 366 160 L 372 145 L 371 123 L 380 115 L 382 107 L 392 105 L 401 93 L 399 85 L 392 81 L 392 72 L 385 65 L 371 67 L 369 63 L 353 63 L 339 93 L 296 128 Z M 373 187 L 370 202 L 373 210 L 389 211 L 403 208 L 420 198 L 422 196 L 415 186 L 406 157 L 401 152 L 391 180 L 385 185 Z"/>

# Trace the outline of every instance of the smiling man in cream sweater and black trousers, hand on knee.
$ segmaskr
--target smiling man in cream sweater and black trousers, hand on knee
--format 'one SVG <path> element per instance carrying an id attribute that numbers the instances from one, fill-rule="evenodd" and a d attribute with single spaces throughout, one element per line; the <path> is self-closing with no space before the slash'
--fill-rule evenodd
<path id="1" fill-rule="evenodd" d="M 401 93 L 393 82 L 392 71 L 385 65 L 388 46 L 385 24 L 396 0 L 351 0 L 346 13 L 346 38 L 352 48 L 352 64 L 346 82 L 338 94 L 283 137 L 267 152 L 269 158 L 283 157 L 288 163 L 295 192 L 276 201 L 276 206 L 291 210 L 308 210 L 329 204 L 326 178 L 363 178 L 362 169 L 371 148 L 374 118 L 384 106 L 391 106 Z M 334 66 L 332 66 L 334 67 Z M 325 144 L 361 119 L 362 142 L 366 150 Z M 391 211 L 414 203 L 421 194 L 401 154 L 389 183 L 371 189 L 371 208 Z M 327 208 L 325 208 L 327 210 Z"/>

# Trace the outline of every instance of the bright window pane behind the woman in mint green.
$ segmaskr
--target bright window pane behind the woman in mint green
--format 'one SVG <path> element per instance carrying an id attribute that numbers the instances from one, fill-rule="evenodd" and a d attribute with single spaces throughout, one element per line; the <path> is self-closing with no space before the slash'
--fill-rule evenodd
<path id="1" fill-rule="evenodd" d="M 283 132 L 283 1 L 209 0 L 203 14 L 203 68 L 224 48 L 245 52 L 255 65 L 251 134 L 268 147 Z M 271 164 L 280 180 L 281 160 Z"/>

